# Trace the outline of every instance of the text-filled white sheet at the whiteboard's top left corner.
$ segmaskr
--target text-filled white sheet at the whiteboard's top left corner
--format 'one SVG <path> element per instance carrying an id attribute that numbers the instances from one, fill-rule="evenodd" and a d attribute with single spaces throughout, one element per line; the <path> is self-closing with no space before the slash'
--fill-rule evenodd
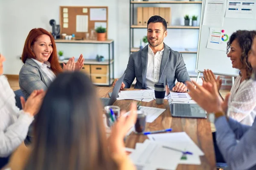
<path id="1" fill-rule="evenodd" d="M 206 0 L 203 25 L 223 26 L 225 6 L 225 0 Z"/>

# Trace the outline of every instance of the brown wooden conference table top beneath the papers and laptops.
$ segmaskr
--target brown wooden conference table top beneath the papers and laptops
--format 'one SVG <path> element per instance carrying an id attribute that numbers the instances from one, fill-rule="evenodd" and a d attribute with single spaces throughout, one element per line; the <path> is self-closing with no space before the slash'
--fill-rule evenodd
<path id="1" fill-rule="evenodd" d="M 98 87 L 99 97 L 109 97 L 108 93 L 112 92 L 113 88 Z M 135 89 L 125 89 L 135 90 Z M 114 105 L 117 105 L 121 110 L 129 111 L 132 100 L 116 100 Z M 215 168 L 215 154 L 212 142 L 212 130 L 210 122 L 207 119 L 189 119 L 189 118 L 175 118 L 171 116 L 168 101 L 165 100 L 163 105 L 157 105 L 155 100 L 151 102 L 142 102 L 142 106 L 165 108 L 164 111 L 154 122 L 147 123 L 146 131 L 162 130 L 172 128 L 172 132 L 186 132 L 189 137 L 201 148 L 204 156 L 200 156 L 201 165 L 185 165 L 179 164 L 177 170 L 214 170 Z M 148 139 L 145 135 L 137 135 L 131 133 L 126 141 L 125 146 L 135 148 L 137 142 L 144 142 Z M 172 160 L 170 160 L 172 161 Z"/>

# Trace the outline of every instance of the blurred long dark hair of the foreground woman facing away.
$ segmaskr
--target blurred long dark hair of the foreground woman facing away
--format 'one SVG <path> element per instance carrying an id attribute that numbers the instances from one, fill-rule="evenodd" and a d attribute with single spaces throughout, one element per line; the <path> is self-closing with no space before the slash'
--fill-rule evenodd
<path id="1" fill-rule="evenodd" d="M 33 151 L 26 169 L 113 170 L 102 109 L 90 78 L 59 74 L 35 119 Z"/>

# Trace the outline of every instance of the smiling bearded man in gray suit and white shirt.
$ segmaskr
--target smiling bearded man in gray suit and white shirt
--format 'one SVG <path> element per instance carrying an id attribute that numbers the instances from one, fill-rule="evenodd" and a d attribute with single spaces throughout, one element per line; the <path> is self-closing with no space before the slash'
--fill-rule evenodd
<path id="1" fill-rule="evenodd" d="M 145 48 L 131 54 L 122 88 L 130 88 L 134 78 L 134 88 L 154 89 L 154 83 L 165 82 L 167 79 L 172 91 L 187 91 L 186 83 L 190 83 L 182 55 L 173 51 L 165 43 L 167 36 L 166 20 L 160 16 L 153 16 L 148 20 L 147 39 Z M 175 80 L 177 84 L 175 85 Z M 115 86 L 116 80 L 113 83 Z"/>

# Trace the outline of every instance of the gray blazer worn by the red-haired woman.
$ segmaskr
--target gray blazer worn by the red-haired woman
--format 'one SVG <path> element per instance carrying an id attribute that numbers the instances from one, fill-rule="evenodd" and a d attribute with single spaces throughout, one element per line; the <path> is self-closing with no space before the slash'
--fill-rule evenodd
<path id="1" fill-rule="evenodd" d="M 32 59 L 26 59 L 19 74 L 19 85 L 25 99 L 27 99 L 34 90 L 47 90 L 51 82 L 51 79 L 49 79 L 37 63 Z"/>

